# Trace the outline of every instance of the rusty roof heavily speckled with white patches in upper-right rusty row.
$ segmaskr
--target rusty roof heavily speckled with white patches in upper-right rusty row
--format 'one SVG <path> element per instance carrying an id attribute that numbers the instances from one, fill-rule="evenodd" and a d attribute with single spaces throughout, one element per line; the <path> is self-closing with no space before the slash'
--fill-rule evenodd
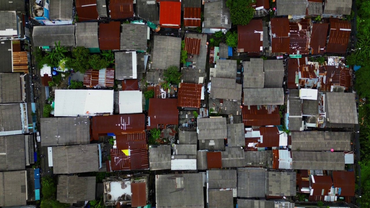
<path id="1" fill-rule="evenodd" d="M 289 54 L 308 54 L 310 40 L 311 19 L 302 19 L 299 22 L 290 22 Z"/>

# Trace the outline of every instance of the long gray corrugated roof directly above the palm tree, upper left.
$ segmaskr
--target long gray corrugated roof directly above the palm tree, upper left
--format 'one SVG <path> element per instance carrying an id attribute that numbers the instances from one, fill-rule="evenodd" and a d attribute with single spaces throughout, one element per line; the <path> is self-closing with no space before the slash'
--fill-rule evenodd
<path id="1" fill-rule="evenodd" d="M 60 46 L 76 46 L 74 24 L 49 25 L 33 27 L 34 46 L 55 46 L 60 41 Z"/>

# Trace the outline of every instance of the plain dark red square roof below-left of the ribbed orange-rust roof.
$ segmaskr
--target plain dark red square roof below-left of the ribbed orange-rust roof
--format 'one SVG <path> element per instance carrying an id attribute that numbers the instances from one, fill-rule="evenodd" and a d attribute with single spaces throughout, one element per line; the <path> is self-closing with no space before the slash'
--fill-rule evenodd
<path id="1" fill-rule="evenodd" d="M 166 128 L 166 125 L 179 123 L 179 110 L 177 99 L 172 98 L 150 98 L 148 109 L 147 129 Z M 160 124 L 160 126 L 158 126 Z M 162 127 L 163 125 L 163 127 Z"/>

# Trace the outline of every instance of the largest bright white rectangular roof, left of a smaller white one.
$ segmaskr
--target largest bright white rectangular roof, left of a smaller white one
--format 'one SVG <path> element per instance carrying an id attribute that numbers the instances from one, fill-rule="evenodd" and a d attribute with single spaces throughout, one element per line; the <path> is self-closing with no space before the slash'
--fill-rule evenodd
<path id="1" fill-rule="evenodd" d="M 55 90 L 54 116 L 113 114 L 113 90 Z"/>

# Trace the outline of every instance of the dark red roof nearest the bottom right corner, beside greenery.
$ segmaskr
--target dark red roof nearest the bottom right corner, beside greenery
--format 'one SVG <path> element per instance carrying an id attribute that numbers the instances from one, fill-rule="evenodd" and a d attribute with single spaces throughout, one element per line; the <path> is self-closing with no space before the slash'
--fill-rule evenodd
<path id="1" fill-rule="evenodd" d="M 354 196 L 354 172 L 333 171 L 334 188 L 340 188 L 340 196 Z"/>

